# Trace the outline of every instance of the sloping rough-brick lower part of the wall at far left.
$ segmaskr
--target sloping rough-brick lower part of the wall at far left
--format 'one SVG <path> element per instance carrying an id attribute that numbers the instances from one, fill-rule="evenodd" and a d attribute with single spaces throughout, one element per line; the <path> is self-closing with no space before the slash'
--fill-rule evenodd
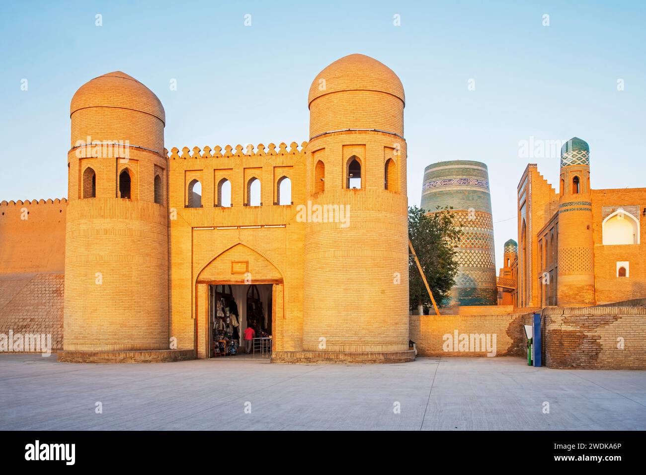
<path id="1" fill-rule="evenodd" d="M 63 348 L 63 274 L 0 275 L 0 334 L 52 335 Z"/>

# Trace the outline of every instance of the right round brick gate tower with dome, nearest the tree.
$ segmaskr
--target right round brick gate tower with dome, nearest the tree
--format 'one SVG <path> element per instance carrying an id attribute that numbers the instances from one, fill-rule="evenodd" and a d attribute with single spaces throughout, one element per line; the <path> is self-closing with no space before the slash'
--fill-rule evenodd
<path id="1" fill-rule="evenodd" d="M 309 89 L 306 352 L 412 358 L 403 113 L 397 75 L 362 54 L 335 61 Z"/>

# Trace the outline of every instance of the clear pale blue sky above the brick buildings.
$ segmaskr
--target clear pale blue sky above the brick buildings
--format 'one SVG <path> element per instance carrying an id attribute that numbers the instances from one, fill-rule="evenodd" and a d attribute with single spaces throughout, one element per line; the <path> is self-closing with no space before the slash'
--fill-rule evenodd
<path id="1" fill-rule="evenodd" d="M 645 5 L 4 0 L 0 200 L 67 196 L 69 102 L 96 76 L 122 70 L 155 92 L 169 149 L 300 143 L 312 79 L 358 52 L 404 84 L 411 205 L 419 206 L 426 165 L 488 165 L 499 266 L 503 243 L 517 235 L 526 164 L 552 184 L 559 173 L 556 157 L 519 157 L 519 141 L 578 136 L 590 144 L 593 188 L 646 186 Z"/>

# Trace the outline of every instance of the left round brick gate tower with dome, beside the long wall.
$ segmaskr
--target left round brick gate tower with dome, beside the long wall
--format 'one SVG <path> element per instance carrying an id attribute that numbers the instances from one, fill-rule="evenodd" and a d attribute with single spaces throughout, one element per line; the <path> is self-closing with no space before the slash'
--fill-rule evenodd
<path id="1" fill-rule="evenodd" d="M 123 72 L 70 105 L 65 351 L 169 348 L 165 113 Z"/>

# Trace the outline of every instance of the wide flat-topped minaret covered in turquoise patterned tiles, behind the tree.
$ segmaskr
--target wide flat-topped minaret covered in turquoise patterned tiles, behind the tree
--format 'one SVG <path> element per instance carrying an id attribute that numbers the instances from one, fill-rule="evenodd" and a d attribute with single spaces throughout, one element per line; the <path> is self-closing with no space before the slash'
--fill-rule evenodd
<path id="1" fill-rule="evenodd" d="M 487 167 L 481 162 L 452 160 L 424 169 L 421 207 L 434 212 L 452 206 L 463 231 L 455 248 L 459 262 L 451 301 L 445 304 L 495 305 L 494 227 Z"/>

